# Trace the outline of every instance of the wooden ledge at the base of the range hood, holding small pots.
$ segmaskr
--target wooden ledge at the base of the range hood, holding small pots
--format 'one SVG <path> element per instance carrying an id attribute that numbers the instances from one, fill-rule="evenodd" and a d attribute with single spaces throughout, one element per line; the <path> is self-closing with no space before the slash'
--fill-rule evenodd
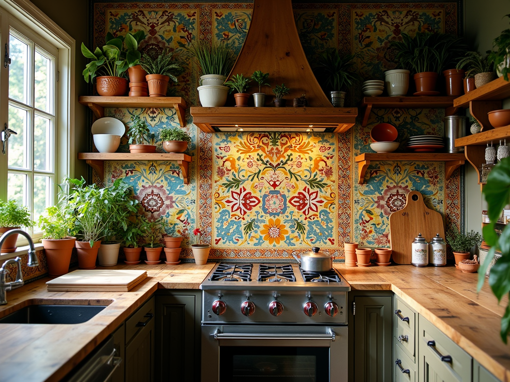
<path id="1" fill-rule="evenodd" d="M 345 132 L 354 126 L 356 107 L 191 107 L 193 123 L 204 132 L 296 131 L 316 128 Z M 293 130 L 294 129 L 294 130 Z M 304 130 L 303 130 L 304 131 Z"/>

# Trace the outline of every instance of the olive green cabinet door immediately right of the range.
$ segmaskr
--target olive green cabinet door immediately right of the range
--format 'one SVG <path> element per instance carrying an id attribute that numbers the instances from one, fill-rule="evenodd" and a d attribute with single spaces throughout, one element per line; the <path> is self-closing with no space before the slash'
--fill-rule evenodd
<path id="1" fill-rule="evenodd" d="M 391 296 L 355 296 L 354 381 L 392 381 Z"/>

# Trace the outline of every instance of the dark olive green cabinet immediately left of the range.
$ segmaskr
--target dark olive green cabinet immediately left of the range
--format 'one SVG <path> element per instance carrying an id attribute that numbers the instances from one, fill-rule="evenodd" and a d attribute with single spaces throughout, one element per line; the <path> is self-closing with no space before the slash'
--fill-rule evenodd
<path id="1" fill-rule="evenodd" d="M 157 381 L 200 381 L 200 319 L 200 291 L 157 292 Z"/>

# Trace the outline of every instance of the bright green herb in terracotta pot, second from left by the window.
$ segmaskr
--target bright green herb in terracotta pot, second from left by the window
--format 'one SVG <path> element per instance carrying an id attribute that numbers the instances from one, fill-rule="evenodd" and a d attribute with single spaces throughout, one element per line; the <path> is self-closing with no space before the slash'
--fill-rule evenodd
<path id="1" fill-rule="evenodd" d="M 39 228 L 44 232 L 41 242 L 49 276 L 59 277 L 69 271 L 76 241 L 76 237 L 70 236 L 70 232 L 74 230 L 74 222 L 75 217 L 62 205 L 47 207 L 46 213 L 39 216 Z"/>

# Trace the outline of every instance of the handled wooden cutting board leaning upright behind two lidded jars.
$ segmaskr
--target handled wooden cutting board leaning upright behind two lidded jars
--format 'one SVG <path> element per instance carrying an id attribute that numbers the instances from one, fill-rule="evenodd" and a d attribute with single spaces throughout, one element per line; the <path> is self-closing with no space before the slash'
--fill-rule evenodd
<path id="1" fill-rule="evenodd" d="M 407 194 L 405 207 L 390 215 L 390 242 L 393 261 L 397 264 L 411 264 L 412 243 L 418 233 L 430 242 L 437 233 L 445 238 L 443 217 L 423 203 L 418 191 Z"/>

